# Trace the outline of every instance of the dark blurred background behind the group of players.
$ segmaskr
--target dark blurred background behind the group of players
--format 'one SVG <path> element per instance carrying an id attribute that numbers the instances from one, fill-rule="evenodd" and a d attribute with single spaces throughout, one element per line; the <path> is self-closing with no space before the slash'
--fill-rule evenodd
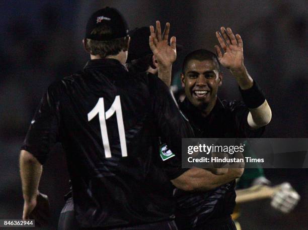
<path id="1" fill-rule="evenodd" d="M 264 137 L 308 137 L 307 2 L 296 1 L 2 1 L 0 3 L 0 219 L 22 217 L 19 148 L 48 85 L 79 71 L 89 59 L 82 47 L 86 21 L 105 6 L 117 8 L 131 29 L 171 23 L 184 46 L 174 64 L 174 81 L 185 55 L 214 51 L 215 31 L 230 27 L 244 41 L 244 63 L 273 111 Z M 235 79 L 223 70 L 219 96 L 240 99 Z M 290 214 L 269 200 L 242 205 L 243 229 L 307 229 L 306 169 L 267 169 L 273 184 L 289 181 L 301 195 Z M 44 166 L 40 190 L 48 194 L 55 229 L 68 190 L 65 157 L 57 145 Z M 12 229 L 12 228 L 10 228 Z M 21 228 L 19 228 L 21 229 Z"/>

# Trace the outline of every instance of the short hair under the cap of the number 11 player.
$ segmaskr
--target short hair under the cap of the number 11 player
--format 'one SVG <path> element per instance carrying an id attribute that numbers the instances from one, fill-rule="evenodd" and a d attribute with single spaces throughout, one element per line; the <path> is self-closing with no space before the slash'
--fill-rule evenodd
<path id="1" fill-rule="evenodd" d="M 107 26 L 95 28 L 91 34 L 111 34 L 112 30 Z M 86 39 L 86 49 L 92 55 L 100 55 L 101 58 L 105 58 L 109 55 L 116 55 L 120 51 L 128 50 L 128 37 L 116 38 L 108 41 L 96 41 Z"/>

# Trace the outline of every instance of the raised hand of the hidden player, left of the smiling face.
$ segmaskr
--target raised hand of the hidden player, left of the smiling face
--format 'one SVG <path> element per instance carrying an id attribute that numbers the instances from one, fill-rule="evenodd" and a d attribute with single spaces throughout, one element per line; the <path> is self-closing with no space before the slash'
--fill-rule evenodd
<path id="1" fill-rule="evenodd" d="M 159 66 L 170 67 L 177 58 L 176 37 L 170 39 L 168 44 L 170 23 L 166 23 L 162 34 L 161 23 L 156 21 L 156 31 L 150 26 L 149 46 L 158 61 Z"/>

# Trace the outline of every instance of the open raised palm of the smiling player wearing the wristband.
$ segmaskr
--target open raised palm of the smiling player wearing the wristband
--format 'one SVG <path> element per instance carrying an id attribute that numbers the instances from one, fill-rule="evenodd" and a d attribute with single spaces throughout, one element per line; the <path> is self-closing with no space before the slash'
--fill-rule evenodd
<path id="1" fill-rule="evenodd" d="M 222 66 L 228 69 L 240 69 L 244 65 L 243 41 L 239 34 L 234 35 L 230 28 L 220 28 L 221 34 L 216 32 L 219 46 L 215 46 L 218 60 Z"/>

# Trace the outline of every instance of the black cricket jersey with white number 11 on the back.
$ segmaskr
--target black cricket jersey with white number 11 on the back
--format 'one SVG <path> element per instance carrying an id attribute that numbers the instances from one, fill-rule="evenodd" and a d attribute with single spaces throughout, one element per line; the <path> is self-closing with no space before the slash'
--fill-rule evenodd
<path id="1" fill-rule="evenodd" d="M 158 77 L 131 74 L 115 59 L 96 59 L 49 86 L 22 149 L 44 164 L 61 142 L 81 227 L 132 226 L 174 214 L 169 179 L 187 170 L 177 155 L 181 138 L 191 136 Z M 159 137 L 175 153 L 164 162 Z"/>

